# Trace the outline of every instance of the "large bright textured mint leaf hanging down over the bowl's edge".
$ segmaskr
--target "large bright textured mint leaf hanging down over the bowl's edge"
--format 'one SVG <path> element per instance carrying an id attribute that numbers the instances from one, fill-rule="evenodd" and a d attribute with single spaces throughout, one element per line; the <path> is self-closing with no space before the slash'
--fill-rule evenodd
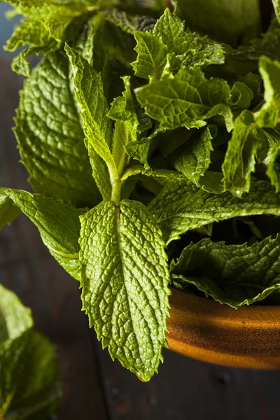
<path id="1" fill-rule="evenodd" d="M 83 309 L 113 359 L 148 381 L 167 345 L 169 273 L 161 232 L 139 202 L 81 216 Z"/>

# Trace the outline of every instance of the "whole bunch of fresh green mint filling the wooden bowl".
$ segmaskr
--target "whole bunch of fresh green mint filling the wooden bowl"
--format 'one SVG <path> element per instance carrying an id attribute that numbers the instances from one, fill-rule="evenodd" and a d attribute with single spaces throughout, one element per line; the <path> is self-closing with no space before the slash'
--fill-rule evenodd
<path id="1" fill-rule="evenodd" d="M 1 188 L 0 225 L 34 222 L 103 347 L 148 381 L 170 285 L 236 308 L 280 288 L 279 223 L 258 216 L 280 214 L 280 1 L 265 34 L 258 0 L 9 3 L 36 194 Z"/>

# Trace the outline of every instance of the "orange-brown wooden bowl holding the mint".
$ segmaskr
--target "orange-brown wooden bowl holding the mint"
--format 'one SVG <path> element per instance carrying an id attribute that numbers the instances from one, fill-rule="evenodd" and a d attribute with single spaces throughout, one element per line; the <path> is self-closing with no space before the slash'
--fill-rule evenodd
<path id="1" fill-rule="evenodd" d="M 168 343 L 184 356 L 251 369 L 280 369 L 280 306 L 232 309 L 172 289 Z"/>

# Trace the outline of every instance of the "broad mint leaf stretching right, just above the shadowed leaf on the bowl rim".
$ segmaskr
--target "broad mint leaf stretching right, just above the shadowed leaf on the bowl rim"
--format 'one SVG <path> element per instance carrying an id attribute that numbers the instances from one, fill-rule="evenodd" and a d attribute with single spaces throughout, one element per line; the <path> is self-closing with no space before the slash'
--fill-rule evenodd
<path id="1" fill-rule="evenodd" d="M 267 181 L 252 179 L 250 193 L 241 199 L 226 191 L 215 195 L 197 188 L 191 181 L 171 181 L 148 205 L 158 221 L 165 242 L 208 223 L 237 216 L 280 214 L 280 195 Z"/>

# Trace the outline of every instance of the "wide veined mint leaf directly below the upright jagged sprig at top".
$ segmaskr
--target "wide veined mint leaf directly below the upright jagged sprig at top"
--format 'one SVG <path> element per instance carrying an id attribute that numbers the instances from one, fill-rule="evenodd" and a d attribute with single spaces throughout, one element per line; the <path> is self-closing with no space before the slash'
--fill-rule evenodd
<path id="1" fill-rule="evenodd" d="M 218 78 L 207 80 L 200 69 L 180 70 L 174 78 L 155 80 L 135 93 L 148 116 L 167 130 L 203 127 L 205 119 L 224 113 L 230 100 L 228 83 Z"/>

